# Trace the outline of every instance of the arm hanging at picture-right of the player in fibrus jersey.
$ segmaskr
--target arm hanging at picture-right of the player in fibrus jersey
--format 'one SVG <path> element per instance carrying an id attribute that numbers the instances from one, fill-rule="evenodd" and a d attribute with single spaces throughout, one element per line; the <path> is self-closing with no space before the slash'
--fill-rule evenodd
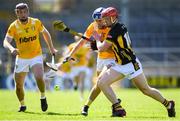
<path id="1" fill-rule="evenodd" d="M 53 45 L 53 42 L 51 39 L 51 35 L 45 27 L 44 27 L 44 30 L 42 31 L 42 34 L 43 34 L 46 44 L 48 45 L 48 48 L 49 48 L 51 54 L 52 55 L 55 54 L 57 52 L 57 50 L 54 48 L 54 45 Z"/>

